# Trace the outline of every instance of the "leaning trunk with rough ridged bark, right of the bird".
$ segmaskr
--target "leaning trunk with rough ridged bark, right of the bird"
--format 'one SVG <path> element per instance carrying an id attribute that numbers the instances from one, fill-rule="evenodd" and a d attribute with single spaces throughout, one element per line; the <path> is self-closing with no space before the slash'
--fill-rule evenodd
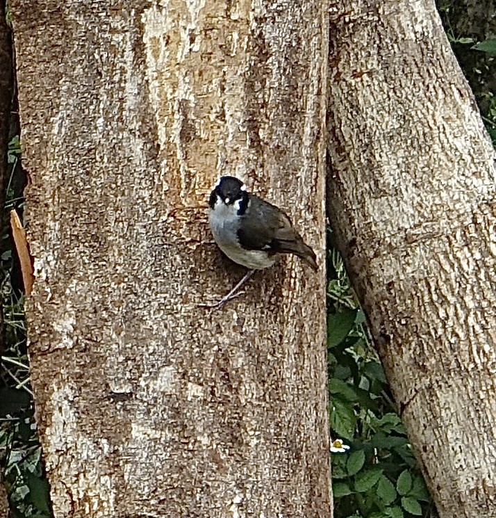
<path id="1" fill-rule="evenodd" d="M 495 153 L 433 2 L 335 2 L 329 213 L 441 517 L 496 517 Z"/>

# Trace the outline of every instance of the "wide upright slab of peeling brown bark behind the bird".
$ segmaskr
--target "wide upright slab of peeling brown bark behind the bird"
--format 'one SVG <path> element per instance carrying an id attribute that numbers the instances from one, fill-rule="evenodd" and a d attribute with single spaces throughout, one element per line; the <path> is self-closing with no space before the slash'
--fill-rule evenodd
<path id="1" fill-rule="evenodd" d="M 330 509 L 324 267 L 244 273 L 206 222 L 235 174 L 324 264 L 320 0 L 13 1 L 57 518 Z"/>

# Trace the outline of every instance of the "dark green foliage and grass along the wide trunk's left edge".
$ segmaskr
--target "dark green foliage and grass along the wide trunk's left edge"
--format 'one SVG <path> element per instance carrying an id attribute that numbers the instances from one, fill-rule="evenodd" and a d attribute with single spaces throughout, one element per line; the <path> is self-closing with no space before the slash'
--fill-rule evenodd
<path id="1" fill-rule="evenodd" d="M 8 226 L 8 211 L 14 207 L 22 210 L 24 201 L 19 136 L 10 140 L 7 159 L 10 177 L 0 241 L 0 293 L 5 325 L 0 376 L 0 460 L 11 517 L 49 518 L 48 483 L 43 473 L 29 387 L 24 295 Z"/>

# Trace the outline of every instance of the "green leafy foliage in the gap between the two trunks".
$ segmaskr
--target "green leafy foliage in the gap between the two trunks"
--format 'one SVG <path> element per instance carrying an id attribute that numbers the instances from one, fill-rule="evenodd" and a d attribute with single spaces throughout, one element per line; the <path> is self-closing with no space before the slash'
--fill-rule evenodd
<path id="1" fill-rule="evenodd" d="M 332 453 L 336 518 L 435 517 L 365 316 L 336 250 L 328 290 L 329 421 L 351 449 Z"/>

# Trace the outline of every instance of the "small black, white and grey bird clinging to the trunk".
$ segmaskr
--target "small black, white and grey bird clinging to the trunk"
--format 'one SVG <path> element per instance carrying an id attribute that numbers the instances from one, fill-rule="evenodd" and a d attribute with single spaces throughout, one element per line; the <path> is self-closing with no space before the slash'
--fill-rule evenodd
<path id="1" fill-rule="evenodd" d="M 229 259 L 250 270 L 224 298 L 208 307 L 220 307 L 231 300 L 256 270 L 272 266 L 279 254 L 295 254 L 317 270 L 315 253 L 290 218 L 275 205 L 248 193 L 238 178 L 221 177 L 208 205 L 215 243 Z"/>

